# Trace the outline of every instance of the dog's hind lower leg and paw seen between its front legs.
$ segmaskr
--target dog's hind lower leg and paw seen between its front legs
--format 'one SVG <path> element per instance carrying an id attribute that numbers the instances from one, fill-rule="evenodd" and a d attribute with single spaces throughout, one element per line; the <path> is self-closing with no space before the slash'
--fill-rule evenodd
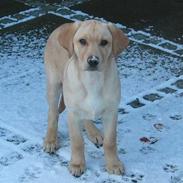
<path id="1" fill-rule="evenodd" d="M 84 128 L 86 129 L 89 140 L 95 144 L 97 148 L 103 145 L 103 136 L 99 129 L 94 125 L 94 122 L 87 120 L 84 122 Z"/>

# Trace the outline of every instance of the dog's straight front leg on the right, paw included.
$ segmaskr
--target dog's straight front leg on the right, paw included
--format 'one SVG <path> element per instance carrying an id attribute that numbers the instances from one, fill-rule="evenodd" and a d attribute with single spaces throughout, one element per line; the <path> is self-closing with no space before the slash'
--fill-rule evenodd
<path id="1" fill-rule="evenodd" d="M 118 158 L 116 146 L 117 112 L 106 112 L 103 116 L 103 125 L 106 169 L 111 174 L 123 174 L 124 167 Z"/>

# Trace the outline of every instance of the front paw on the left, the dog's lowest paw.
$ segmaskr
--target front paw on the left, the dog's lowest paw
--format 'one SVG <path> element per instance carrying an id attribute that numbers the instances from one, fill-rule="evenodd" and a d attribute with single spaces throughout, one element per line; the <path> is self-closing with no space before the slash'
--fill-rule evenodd
<path id="1" fill-rule="evenodd" d="M 69 163 L 69 171 L 75 177 L 80 177 L 85 171 L 85 164 L 74 164 L 72 162 Z"/>

